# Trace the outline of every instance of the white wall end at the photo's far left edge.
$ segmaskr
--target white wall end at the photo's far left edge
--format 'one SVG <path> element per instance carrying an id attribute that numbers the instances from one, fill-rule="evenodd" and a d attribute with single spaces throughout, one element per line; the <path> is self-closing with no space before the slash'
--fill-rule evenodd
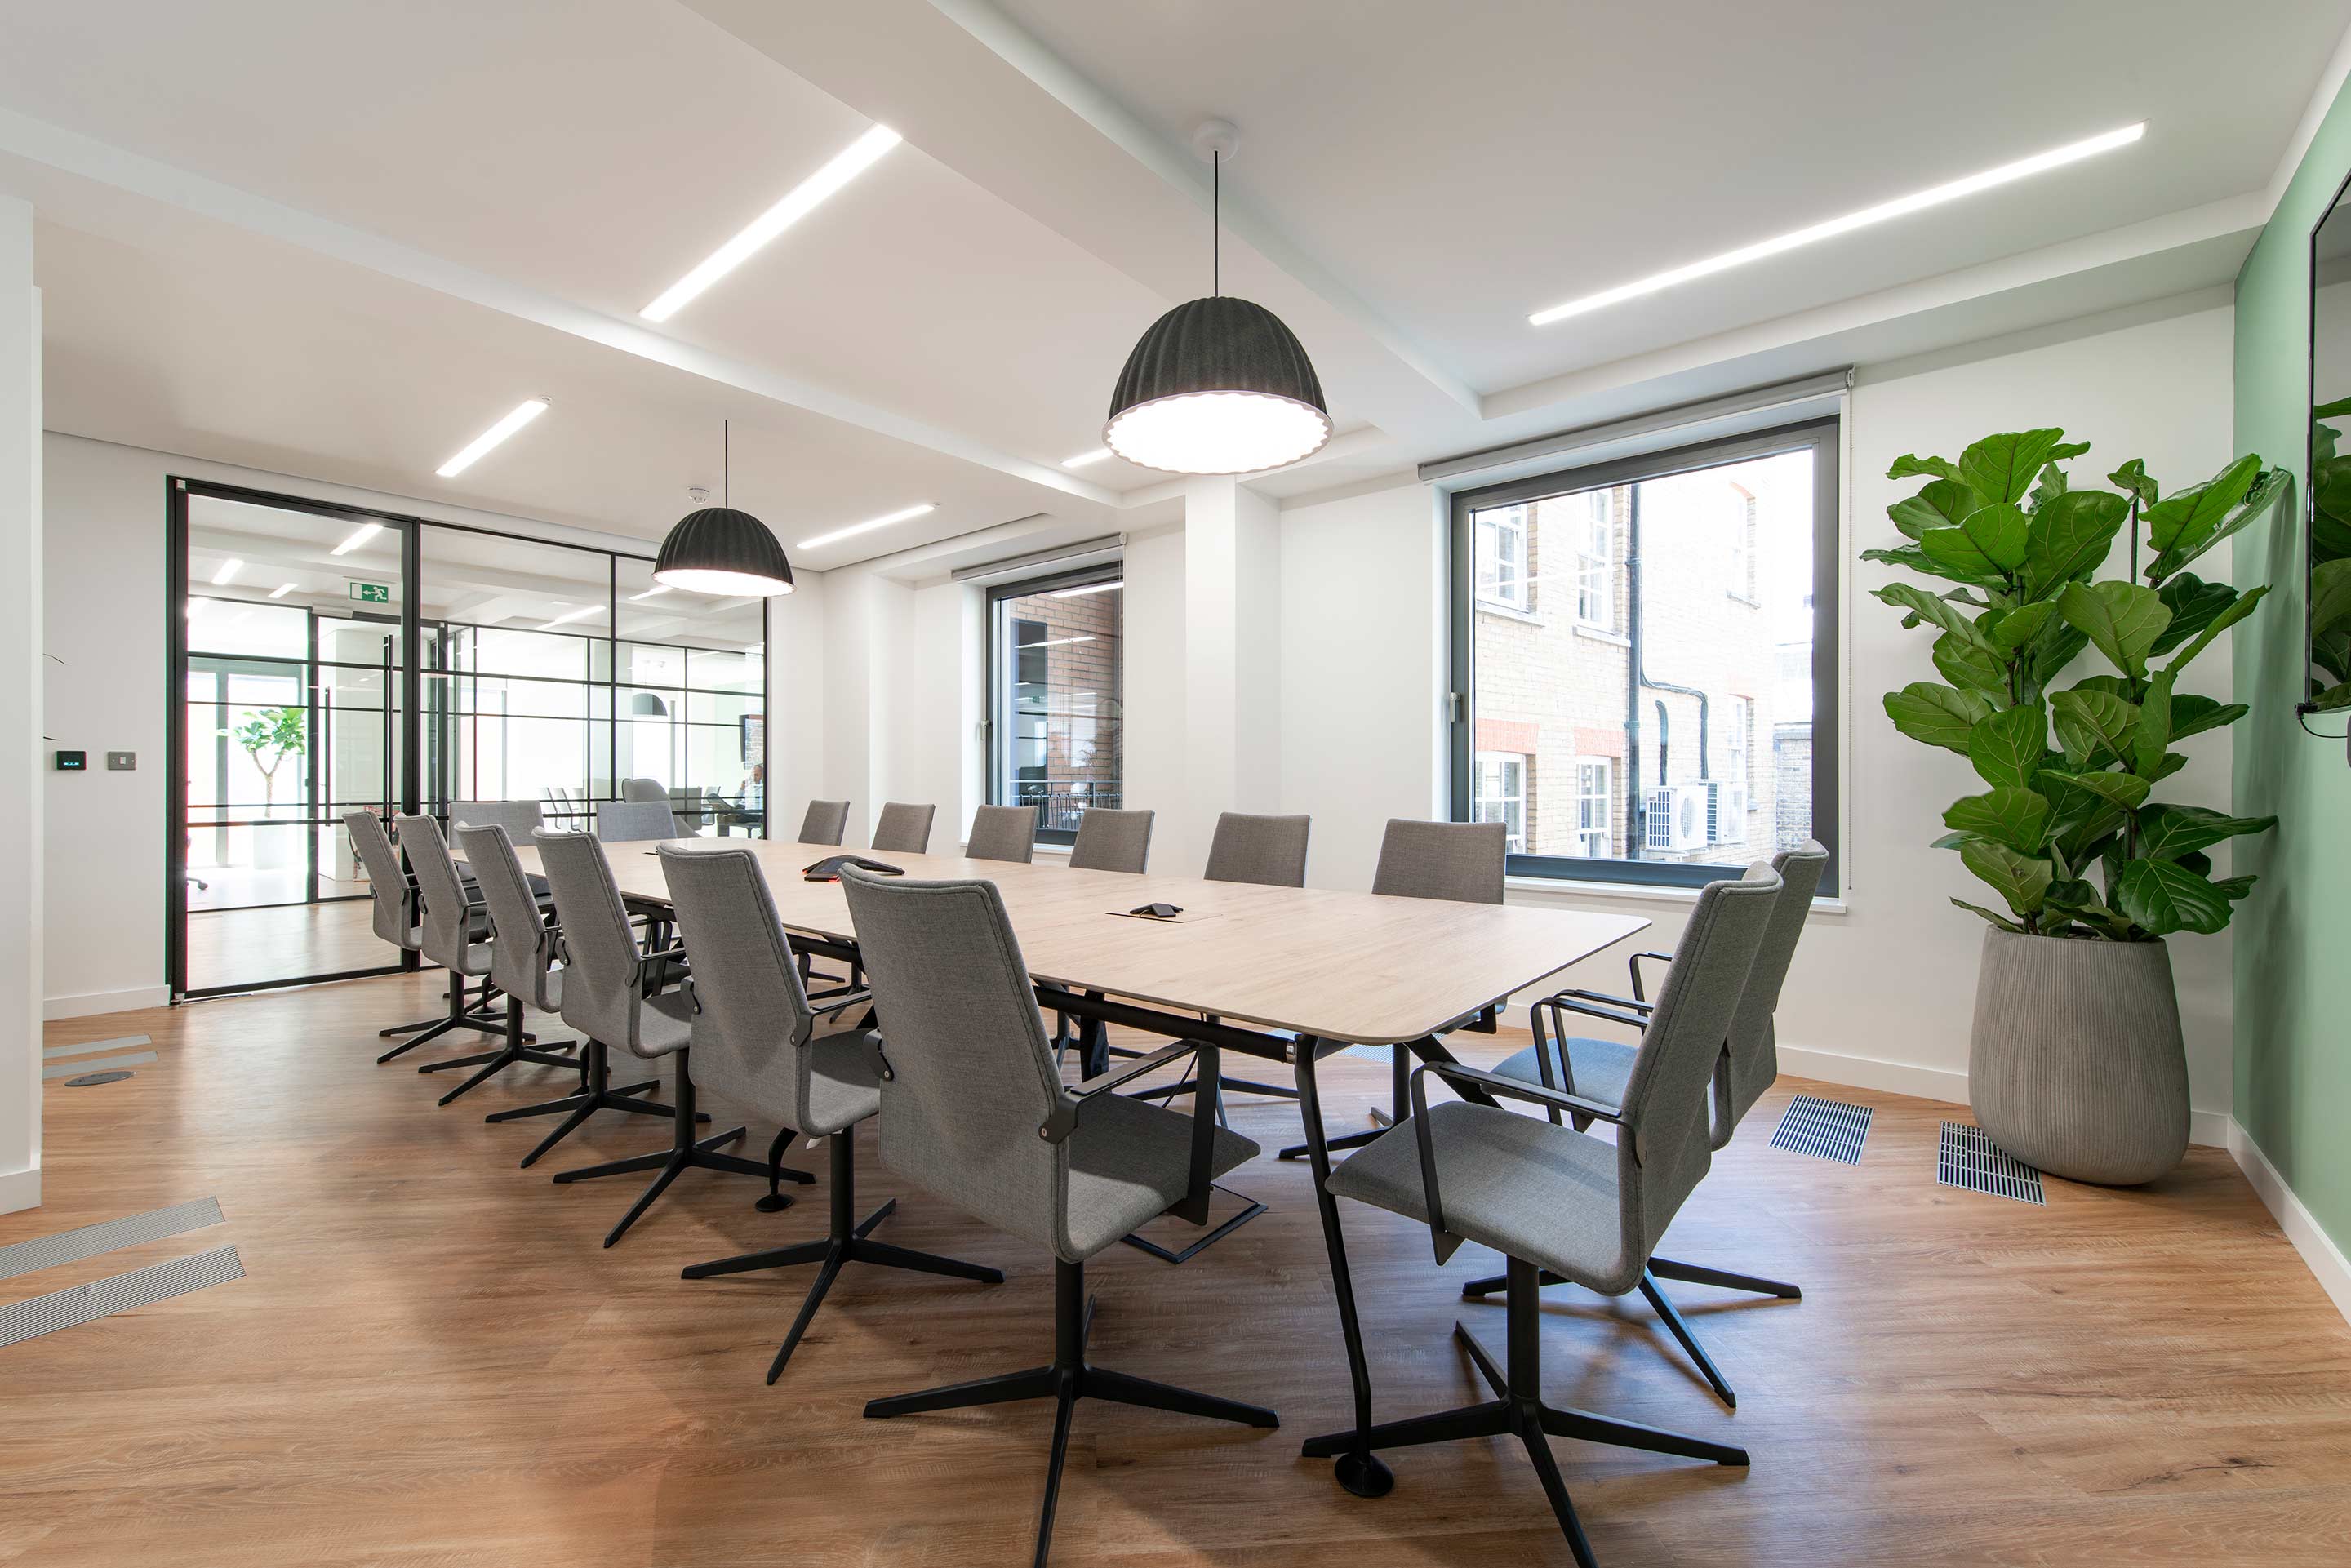
<path id="1" fill-rule="evenodd" d="M 0 197 L 0 1213 L 40 1204 L 40 292 Z"/>

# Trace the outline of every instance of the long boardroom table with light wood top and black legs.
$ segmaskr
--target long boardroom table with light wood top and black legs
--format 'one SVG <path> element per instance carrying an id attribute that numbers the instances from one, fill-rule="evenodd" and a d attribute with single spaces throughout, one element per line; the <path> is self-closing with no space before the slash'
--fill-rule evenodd
<path id="1" fill-rule="evenodd" d="M 665 846 L 750 851 L 795 945 L 858 961 L 842 884 L 804 877 L 816 860 L 844 853 L 837 844 L 668 839 Z M 517 844 L 515 853 L 522 870 L 541 870 L 529 844 Z M 607 844 L 604 858 L 623 898 L 656 912 L 668 905 L 654 844 Z M 915 879 L 994 882 L 1039 1006 L 1089 1020 L 1093 1030 L 1119 1025 L 1168 1039 L 1208 1039 L 1223 1051 L 1293 1070 L 1347 1342 L 1357 1432 L 1371 1427 L 1371 1375 L 1338 1199 L 1328 1187 L 1331 1150 L 1314 1086 L 1317 1060 L 1349 1046 L 1404 1046 L 1427 1060 L 1451 1060 L 1441 1041 L 1446 1030 L 1648 926 L 1636 914 L 1138 877 L 1056 860 L 872 858 Z M 1171 903 L 1183 912 L 1176 919 L 1128 914 L 1145 903 Z M 1394 1486 L 1368 1446 L 1340 1455 L 1338 1479 L 1366 1497 Z"/>

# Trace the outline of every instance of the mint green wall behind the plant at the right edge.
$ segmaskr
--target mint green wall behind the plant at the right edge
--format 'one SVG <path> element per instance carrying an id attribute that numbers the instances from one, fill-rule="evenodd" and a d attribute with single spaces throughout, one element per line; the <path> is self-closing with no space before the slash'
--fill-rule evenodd
<path id="1" fill-rule="evenodd" d="M 2295 722 L 2304 684 L 2302 512 L 2309 482 L 2311 226 L 2351 172 L 2351 89 L 2236 277 L 2236 449 L 2295 473 L 2285 510 L 2236 536 L 2236 583 L 2271 595 L 2236 632 L 2236 811 L 2276 811 L 2236 839 L 2262 877 L 2236 917 L 2236 1121 L 2318 1225 L 2351 1251 L 2351 766 Z M 2342 731 L 2344 719 L 2313 722 Z"/>

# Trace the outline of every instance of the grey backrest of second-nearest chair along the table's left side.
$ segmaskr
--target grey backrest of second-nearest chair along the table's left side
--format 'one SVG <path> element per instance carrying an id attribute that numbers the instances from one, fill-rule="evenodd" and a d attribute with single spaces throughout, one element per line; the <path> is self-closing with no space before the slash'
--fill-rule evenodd
<path id="1" fill-rule="evenodd" d="M 694 1079 L 809 1135 L 816 1030 L 776 900 L 748 849 L 661 851 L 677 933 L 694 959 Z"/>

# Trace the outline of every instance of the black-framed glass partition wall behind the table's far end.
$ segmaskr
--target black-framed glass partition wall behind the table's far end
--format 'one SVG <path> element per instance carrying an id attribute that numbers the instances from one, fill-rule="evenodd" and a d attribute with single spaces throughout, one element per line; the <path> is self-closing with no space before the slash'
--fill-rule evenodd
<path id="1" fill-rule="evenodd" d="M 193 480 L 169 501 L 174 997 L 416 966 L 371 931 L 353 809 L 534 799 L 592 827 L 654 778 L 682 835 L 766 832 L 764 599 Z"/>

